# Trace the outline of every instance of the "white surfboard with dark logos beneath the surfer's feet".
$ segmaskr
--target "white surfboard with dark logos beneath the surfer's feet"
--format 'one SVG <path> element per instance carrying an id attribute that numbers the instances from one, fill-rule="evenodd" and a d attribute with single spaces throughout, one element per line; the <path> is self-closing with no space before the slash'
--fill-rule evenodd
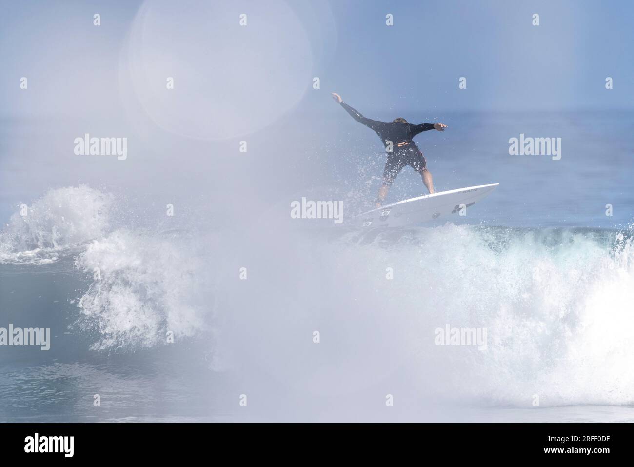
<path id="1" fill-rule="evenodd" d="M 500 183 L 491 183 L 405 199 L 354 216 L 347 224 L 364 228 L 403 227 L 441 216 L 450 220 L 458 216 L 461 209 L 470 209 L 498 185 Z"/>

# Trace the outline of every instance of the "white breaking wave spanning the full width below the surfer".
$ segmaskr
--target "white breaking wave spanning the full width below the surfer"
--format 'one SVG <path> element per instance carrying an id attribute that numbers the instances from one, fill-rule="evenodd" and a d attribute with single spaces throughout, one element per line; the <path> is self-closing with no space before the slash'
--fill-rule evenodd
<path id="1" fill-rule="evenodd" d="M 634 403 L 631 228 L 165 232 L 113 229 L 112 203 L 51 190 L 0 234 L 5 263 L 72 254 L 88 282 L 71 331 L 95 334 L 95 350 L 212 329 L 222 365 L 322 395 L 398 375 L 420 397 Z M 436 345 L 447 325 L 486 328 L 486 350 Z"/>

